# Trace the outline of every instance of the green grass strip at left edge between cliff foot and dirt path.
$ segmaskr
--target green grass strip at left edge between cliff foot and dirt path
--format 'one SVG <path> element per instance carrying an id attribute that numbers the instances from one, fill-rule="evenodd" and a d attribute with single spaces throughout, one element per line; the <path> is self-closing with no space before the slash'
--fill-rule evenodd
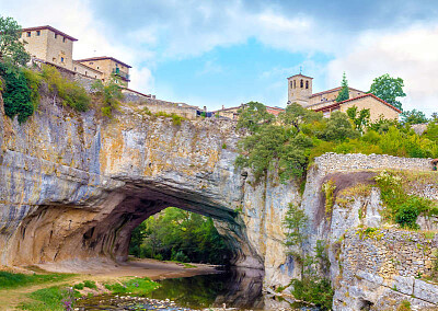
<path id="1" fill-rule="evenodd" d="M 16 288 L 26 285 L 59 281 L 73 276 L 73 274 L 14 274 L 0 272 L 0 289 Z"/>

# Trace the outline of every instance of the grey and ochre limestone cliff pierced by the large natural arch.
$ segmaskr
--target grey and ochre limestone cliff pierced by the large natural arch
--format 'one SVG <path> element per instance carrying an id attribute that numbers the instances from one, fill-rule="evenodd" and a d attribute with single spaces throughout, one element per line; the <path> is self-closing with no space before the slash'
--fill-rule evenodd
<path id="1" fill-rule="evenodd" d="M 1 264 L 124 261 L 131 230 L 176 206 L 214 217 L 237 265 L 287 283 L 281 220 L 296 188 L 250 185 L 233 123 L 141 111 L 126 104 L 108 120 L 43 97 L 23 125 L 0 111 Z"/>

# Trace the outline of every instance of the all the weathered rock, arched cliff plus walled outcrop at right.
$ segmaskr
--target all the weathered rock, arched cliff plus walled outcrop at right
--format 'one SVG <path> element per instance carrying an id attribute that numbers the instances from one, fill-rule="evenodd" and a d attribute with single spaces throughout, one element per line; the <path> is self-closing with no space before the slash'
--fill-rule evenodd
<path id="1" fill-rule="evenodd" d="M 300 195 L 296 182 L 281 184 L 273 172 L 255 183 L 250 171 L 234 168 L 233 123 L 174 125 L 142 108 L 125 104 L 108 120 L 43 96 L 38 112 L 19 125 L 0 103 L 0 264 L 124 261 L 131 230 L 175 206 L 214 217 L 237 265 L 264 268 L 265 285 L 286 285 L 300 275 L 284 245 L 283 219 L 293 203 L 310 219 L 304 251 L 312 253 L 318 240 L 328 246 L 334 310 L 395 310 L 402 300 L 437 306 L 437 287 L 416 278 L 430 273 L 436 238 L 395 228 L 379 231 L 381 239 L 355 233 L 384 226 L 373 184 L 379 170 L 402 170 L 412 194 L 438 200 L 430 159 L 326 153 L 309 169 Z M 327 210 L 321 186 L 328 180 L 336 200 Z M 437 229 L 435 219 L 418 224 Z"/>

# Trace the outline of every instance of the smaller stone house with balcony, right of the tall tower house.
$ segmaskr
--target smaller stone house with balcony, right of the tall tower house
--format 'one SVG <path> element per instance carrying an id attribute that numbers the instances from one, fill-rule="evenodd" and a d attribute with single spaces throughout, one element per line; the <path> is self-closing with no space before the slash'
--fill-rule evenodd
<path id="1" fill-rule="evenodd" d="M 129 68 L 131 68 L 131 66 L 115 59 L 114 57 L 100 56 L 78 59 L 74 61 L 102 72 L 101 79 L 104 82 L 114 74 L 119 78 L 118 83 L 120 83 L 120 85 L 128 88 L 128 83 L 130 82 Z"/>

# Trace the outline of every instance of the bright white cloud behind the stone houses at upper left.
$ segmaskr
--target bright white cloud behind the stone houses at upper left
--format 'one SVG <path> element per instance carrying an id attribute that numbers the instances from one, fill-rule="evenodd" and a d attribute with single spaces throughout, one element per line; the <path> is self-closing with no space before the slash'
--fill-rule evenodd
<path id="1" fill-rule="evenodd" d="M 141 65 L 153 54 L 135 46 L 120 44 L 108 33 L 106 25 L 93 15 L 91 0 L 0 0 L 0 12 L 13 16 L 23 27 L 50 25 L 78 39 L 73 45 L 73 58 L 112 56 L 131 65 L 132 88 L 150 92 L 153 85 L 151 71 Z M 25 8 L 25 9 L 24 9 Z"/>

